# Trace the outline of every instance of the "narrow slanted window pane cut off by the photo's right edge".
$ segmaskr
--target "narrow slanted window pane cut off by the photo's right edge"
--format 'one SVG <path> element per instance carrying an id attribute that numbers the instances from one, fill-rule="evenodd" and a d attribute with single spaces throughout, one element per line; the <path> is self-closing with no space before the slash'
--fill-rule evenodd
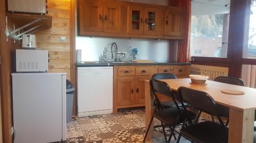
<path id="1" fill-rule="evenodd" d="M 244 58 L 256 59 L 256 2 L 253 1 L 249 10 L 249 22 L 247 27 Z"/>

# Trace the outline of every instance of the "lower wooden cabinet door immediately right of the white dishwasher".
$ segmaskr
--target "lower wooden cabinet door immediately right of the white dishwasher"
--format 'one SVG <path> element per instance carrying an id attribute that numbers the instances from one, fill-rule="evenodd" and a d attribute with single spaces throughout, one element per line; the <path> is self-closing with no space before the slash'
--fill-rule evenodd
<path id="1" fill-rule="evenodd" d="M 134 77 L 118 77 L 117 78 L 117 105 L 134 104 L 135 95 L 135 79 Z"/>

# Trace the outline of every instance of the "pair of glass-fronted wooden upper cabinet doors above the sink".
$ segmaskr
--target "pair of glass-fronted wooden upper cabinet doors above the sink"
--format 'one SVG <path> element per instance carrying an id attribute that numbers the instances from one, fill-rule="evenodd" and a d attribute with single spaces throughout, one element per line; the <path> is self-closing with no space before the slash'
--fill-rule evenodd
<path id="1" fill-rule="evenodd" d="M 131 4 L 128 11 L 128 33 L 157 35 L 159 19 L 158 8 L 143 8 Z"/>

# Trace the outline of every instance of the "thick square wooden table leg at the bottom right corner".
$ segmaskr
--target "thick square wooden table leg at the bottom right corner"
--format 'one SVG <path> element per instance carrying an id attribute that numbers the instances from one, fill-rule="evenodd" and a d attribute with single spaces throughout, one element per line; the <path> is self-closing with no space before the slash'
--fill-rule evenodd
<path id="1" fill-rule="evenodd" d="M 229 109 L 228 143 L 252 143 L 254 109 Z"/>

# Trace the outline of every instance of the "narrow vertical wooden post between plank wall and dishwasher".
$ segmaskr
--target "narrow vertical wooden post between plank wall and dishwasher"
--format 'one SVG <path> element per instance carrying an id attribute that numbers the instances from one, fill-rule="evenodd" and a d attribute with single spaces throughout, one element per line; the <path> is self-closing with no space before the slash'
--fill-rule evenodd
<path id="1" fill-rule="evenodd" d="M 76 27 L 75 27 L 75 13 L 76 13 L 76 0 L 70 0 L 70 79 L 71 82 L 76 89 L 76 46 L 75 46 L 75 37 L 76 37 Z M 76 115 L 76 97 L 77 92 L 75 91 L 74 94 L 74 101 L 73 101 L 73 115 Z"/>

